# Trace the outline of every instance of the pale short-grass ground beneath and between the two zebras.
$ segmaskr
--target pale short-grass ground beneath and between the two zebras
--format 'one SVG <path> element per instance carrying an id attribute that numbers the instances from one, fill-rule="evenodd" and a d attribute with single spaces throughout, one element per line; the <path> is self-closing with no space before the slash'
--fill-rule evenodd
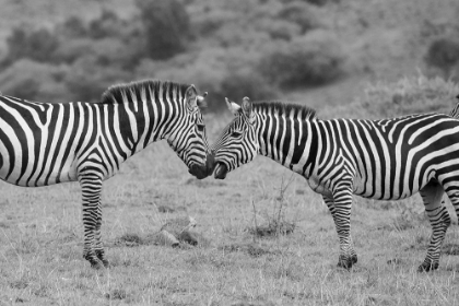
<path id="1" fill-rule="evenodd" d="M 229 119 L 207 117 L 211 141 Z M 355 199 L 358 263 L 344 271 L 336 267 L 338 238 L 320 197 L 264 157 L 223 181 L 195 179 L 164 142 L 129 160 L 104 188 L 103 239 L 113 264 L 105 271 L 82 258 L 78 184 L 1 189 L 0 305 L 459 303 L 457 225 L 439 270 L 416 272 L 431 233 L 419 196 Z M 199 245 L 155 245 L 162 223 L 184 215 L 197 220 Z M 294 231 L 254 234 L 275 221 Z"/>

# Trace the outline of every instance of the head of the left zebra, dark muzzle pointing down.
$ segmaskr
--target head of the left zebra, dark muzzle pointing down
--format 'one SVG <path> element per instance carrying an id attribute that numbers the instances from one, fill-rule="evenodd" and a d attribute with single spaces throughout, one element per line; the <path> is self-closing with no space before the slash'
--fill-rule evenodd
<path id="1" fill-rule="evenodd" d="M 188 166 L 188 172 L 199 179 L 208 177 L 207 157 L 209 144 L 205 134 L 205 125 L 200 107 L 205 106 L 204 95 L 198 95 L 195 85 L 190 85 L 180 105 L 184 116 L 180 116 L 176 127 L 167 137 L 167 142 L 177 155 Z"/>

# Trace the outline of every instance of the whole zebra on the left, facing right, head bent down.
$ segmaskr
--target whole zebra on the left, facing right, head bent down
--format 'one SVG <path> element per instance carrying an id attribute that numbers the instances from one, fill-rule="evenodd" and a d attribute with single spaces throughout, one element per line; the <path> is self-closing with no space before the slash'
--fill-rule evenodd
<path id="1" fill-rule="evenodd" d="M 207 94 L 207 93 L 205 93 Z M 103 181 L 122 162 L 154 141 L 167 140 L 204 177 L 208 154 L 193 85 L 144 80 L 110 86 L 98 103 L 39 103 L 0 96 L 0 179 L 23 187 L 79 181 L 82 190 L 83 257 L 108 267 L 101 239 Z"/>

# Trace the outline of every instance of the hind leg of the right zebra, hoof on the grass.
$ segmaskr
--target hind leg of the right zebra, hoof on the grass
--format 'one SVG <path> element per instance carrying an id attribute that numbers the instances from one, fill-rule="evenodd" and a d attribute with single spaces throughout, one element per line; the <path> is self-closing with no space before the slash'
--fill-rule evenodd
<path id="1" fill-rule="evenodd" d="M 417 268 L 419 272 L 423 272 L 438 269 L 440 248 L 451 220 L 444 205 L 445 202 L 442 201 L 445 193 L 442 185 L 437 181 L 431 181 L 420 190 L 420 193 L 432 225 L 432 237 L 427 255 L 424 262 Z"/>

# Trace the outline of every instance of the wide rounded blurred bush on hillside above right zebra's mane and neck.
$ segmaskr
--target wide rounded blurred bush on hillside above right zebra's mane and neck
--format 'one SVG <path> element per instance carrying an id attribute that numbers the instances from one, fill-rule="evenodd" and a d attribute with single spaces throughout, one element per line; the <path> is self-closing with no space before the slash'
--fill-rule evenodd
<path id="1" fill-rule="evenodd" d="M 330 83 L 343 74 L 344 54 L 329 33 L 314 31 L 290 44 L 271 46 L 260 72 L 283 89 Z"/>

